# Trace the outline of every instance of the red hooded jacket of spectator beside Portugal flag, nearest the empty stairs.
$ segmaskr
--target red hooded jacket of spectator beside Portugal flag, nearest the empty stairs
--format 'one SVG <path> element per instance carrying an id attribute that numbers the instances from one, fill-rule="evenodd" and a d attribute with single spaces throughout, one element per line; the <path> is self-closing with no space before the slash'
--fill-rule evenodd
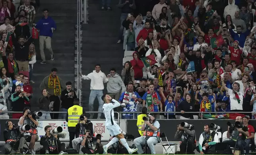
<path id="1" fill-rule="evenodd" d="M 141 79 L 143 77 L 142 68 L 144 67 L 144 64 L 139 57 L 139 53 L 136 51 L 134 53 L 137 53 L 138 55 L 137 61 L 134 58 L 130 61 L 134 70 L 134 79 Z M 134 57 L 134 53 L 132 54 L 133 57 Z"/>

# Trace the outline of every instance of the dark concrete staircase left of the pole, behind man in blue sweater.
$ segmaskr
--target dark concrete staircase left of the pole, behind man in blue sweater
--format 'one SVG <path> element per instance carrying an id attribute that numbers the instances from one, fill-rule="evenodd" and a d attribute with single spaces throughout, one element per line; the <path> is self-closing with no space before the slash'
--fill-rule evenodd
<path id="1" fill-rule="evenodd" d="M 41 56 L 39 51 L 39 40 L 35 40 L 37 62 L 34 64 L 35 84 L 33 87 L 32 110 L 38 110 L 37 103 L 41 96 L 39 86 L 45 76 L 50 74 L 51 68 L 58 69 L 58 76 L 66 83 L 71 81 L 74 84 L 74 45 L 75 45 L 75 25 L 77 17 L 76 0 L 41 0 L 40 11 L 35 22 L 42 17 L 42 9 L 48 8 L 49 16 L 56 22 L 57 29 L 52 37 L 52 50 L 54 60 L 50 61 L 50 54 L 45 49 L 47 64 L 40 64 Z"/>

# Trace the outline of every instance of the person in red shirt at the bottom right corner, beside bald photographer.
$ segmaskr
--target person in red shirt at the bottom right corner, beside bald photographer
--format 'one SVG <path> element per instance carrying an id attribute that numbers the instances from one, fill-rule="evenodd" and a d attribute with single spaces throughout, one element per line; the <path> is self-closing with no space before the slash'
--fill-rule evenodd
<path id="1" fill-rule="evenodd" d="M 250 151 L 250 145 L 253 144 L 253 138 L 254 138 L 254 127 L 252 125 L 248 124 L 249 118 L 244 116 L 242 118 L 242 123 L 245 127 L 248 128 L 249 137 L 246 137 L 246 146 L 245 146 L 245 154 L 249 154 Z"/>

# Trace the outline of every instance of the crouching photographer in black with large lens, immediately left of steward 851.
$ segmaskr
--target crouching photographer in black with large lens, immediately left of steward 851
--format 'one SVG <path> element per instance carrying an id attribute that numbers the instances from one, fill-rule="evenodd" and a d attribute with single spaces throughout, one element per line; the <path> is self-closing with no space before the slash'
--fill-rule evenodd
<path id="1" fill-rule="evenodd" d="M 40 145 L 43 146 L 45 154 L 68 154 L 65 151 L 65 143 L 61 143 L 57 134 L 51 134 L 52 127 L 50 125 L 45 126 L 45 136 L 40 139 Z M 42 153 L 42 152 L 41 152 Z"/>

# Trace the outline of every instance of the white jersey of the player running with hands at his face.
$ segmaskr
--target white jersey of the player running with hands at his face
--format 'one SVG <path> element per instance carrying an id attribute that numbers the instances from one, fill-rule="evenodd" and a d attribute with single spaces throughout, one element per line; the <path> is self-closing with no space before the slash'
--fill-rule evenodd
<path id="1" fill-rule="evenodd" d="M 112 102 L 114 103 L 105 103 L 103 104 L 103 107 L 102 107 L 102 110 L 103 110 L 103 113 L 104 113 L 104 116 L 106 118 L 106 126 L 110 126 L 110 125 L 114 125 L 116 124 L 116 122 L 114 121 L 114 108 L 120 106 L 121 104 L 112 99 Z"/>

